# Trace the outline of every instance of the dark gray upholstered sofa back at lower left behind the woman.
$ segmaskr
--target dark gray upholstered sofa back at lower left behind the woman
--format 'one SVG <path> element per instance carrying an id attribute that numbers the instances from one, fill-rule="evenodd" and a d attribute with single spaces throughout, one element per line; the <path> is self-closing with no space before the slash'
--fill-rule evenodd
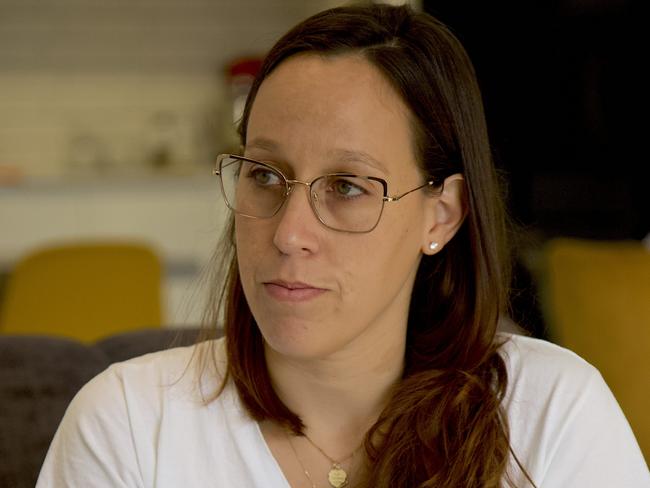
<path id="1" fill-rule="evenodd" d="M 0 334 L 0 487 L 33 488 L 72 397 L 109 364 L 196 342 L 198 329 L 143 329 L 87 345 Z"/>

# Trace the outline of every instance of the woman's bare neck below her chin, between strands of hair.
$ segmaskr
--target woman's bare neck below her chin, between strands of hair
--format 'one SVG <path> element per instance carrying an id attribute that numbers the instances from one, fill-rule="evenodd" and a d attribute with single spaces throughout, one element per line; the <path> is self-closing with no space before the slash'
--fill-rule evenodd
<path id="1" fill-rule="evenodd" d="M 378 346 L 375 344 L 375 346 Z M 365 352 L 339 351 L 295 359 L 266 348 L 276 393 L 305 424 L 305 433 L 333 458 L 357 448 L 385 407 L 404 367 L 403 341 Z"/>

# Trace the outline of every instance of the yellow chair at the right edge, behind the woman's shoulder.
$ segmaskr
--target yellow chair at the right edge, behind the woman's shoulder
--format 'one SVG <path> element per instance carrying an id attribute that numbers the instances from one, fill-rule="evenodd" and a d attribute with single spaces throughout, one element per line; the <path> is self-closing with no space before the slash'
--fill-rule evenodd
<path id="1" fill-rule="evenodd" d="M 650 460 L 650 252 L 633 241 L 555 239 L 543 256 L 552 338 L 600 370 Z"/>

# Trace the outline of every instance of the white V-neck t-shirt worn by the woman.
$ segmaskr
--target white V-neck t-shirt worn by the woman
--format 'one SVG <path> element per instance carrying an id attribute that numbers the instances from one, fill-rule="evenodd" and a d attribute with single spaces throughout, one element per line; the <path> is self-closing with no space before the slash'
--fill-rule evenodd
<path id="1" fill-rule="evenodd" d="M 537 486 L 650 488 L 638 444 L 598 371 L 548 342 L 507 337 L 511 444 Z M 215 346 L 223 366 L 222 340 Z M 202 402 L 196 375 L 186 371 L 192 351 L 114 364 L 84 386 L 37 488 L 289 488 L 232 386 Z M 212 378 L 206 392 L 218 384 Z M 530 486 L 512 472 L 518 487 Z"/>

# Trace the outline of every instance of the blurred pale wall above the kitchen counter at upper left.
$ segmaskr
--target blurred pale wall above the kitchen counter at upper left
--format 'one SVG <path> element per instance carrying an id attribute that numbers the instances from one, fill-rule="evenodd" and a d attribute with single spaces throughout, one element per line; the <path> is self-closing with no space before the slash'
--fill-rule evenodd
<path id="1" fill-rule="evenodd" d="M 113 172 L 145 168 L 160 111 L 174 114 L 179 166 L 208 164 L 226 144 L 224 66 L 262 55 L 335 3 L 2 0 L 0 168 L 41 178 L 93 160 Z"/>

